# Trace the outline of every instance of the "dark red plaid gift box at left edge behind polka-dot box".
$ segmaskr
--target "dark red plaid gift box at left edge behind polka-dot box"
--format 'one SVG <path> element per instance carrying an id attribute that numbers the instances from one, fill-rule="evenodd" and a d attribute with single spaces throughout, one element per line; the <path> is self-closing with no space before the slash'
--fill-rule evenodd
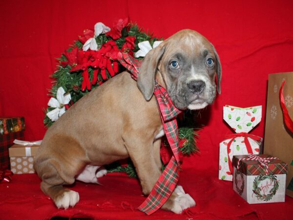
<path id="1" fill-rule="evenodd" d="M 9 169 L 8 149 L 15 139 L 23 140 L 24 117 L 0 117 L 0 170 Z"/>

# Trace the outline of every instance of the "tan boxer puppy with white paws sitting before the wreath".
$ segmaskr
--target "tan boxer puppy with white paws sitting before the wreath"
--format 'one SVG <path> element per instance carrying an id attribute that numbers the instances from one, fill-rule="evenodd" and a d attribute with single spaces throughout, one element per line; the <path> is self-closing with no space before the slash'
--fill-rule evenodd
<path id="1" fill-rule="evenodd" d="M 76 177 L 96 182 L 100 166 L 130 157 L 148 195 L 161 175 L 164 135 L 153 95 L 155 80 L 167 89 L 178 109 L 198 110 L 215 99 L 215 75 L 220 93 L 219 57 L 199 33 L 182 30 L 163 41 L 147 53 L 137 82 L 128 72 L 109 79 L 48 129 L 34 163 L 42 191 L 58 208 L 74 206 L 79 194 L 63 185 L 74 183 Z M 181 213 L 194 205 L 177 186 L 162 208 Z"/>

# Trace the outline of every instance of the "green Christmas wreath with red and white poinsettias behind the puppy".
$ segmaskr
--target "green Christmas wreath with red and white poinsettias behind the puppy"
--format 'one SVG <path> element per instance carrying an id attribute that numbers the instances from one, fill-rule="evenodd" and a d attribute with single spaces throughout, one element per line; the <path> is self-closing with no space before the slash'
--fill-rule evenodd
<path id="1" fill-rule="evenodd" d="M 53 86 L 50 89 L 48 108 L 45 110 L 44 124 L 49 127 L 75 102 L 92 89 L 102 85 L 115 75 L 125 71 L 117 60 L 119 51 L 126 52 L 141 60 L 146 53 L 161 43 L 145 33 L 136 24 L 120 19 L 112 28 L 98 22 L 94 30 L 85 29 L 78 40 L 69 46 L 58 59 L 57 70 L 52 75 Z M 86 108 L 86 106 L 84 107 Z M 192 113 L 184 112 L 179 117 L 179 147 L 182 155 L 198 152 L 196 138 L 198 129 L 190 122 Z M 162 141 L 161 158 L 167 164 L 171 157 L 167 141 Z M 134 166 L 128 160 L 126 164 L 114 163 L 107 167 L 108 172 L 126 172 L 136 176 Z"/>

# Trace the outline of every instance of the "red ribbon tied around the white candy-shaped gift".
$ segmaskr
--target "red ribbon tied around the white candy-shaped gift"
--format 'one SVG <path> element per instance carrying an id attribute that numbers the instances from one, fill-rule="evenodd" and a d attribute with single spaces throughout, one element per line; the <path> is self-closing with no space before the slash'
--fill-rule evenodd
<path id="1" fill-rule="evenodd" d="M 233 166 L 232 166 L 232 160 L 230 158 L 229 153 L 231 151 L 231 149 L 230 149 L 231 143 L 236 137 L 244 137 L 244 143 L 245 143 L 247 152 L 249 154 L 253 154 L 253 152 L 252 152 L 251 144 L 248 140 L 248 137 L 250 137 L 251 139 L 256 140 L 256 141 L 261 141 L 261 137 L 253 135 L 253 134 L 249 134 L 247 132 L 240 132 L 240 133 L 233 133 L 233 134 L 226 135 L 225 138 L 227 138 L 227 139 L 231 138 L 231 140 L 228 142 L 228 145 L 227 145 L 228 164 L 229 164 L 229 169 L 230 169 L 231 174 L 233 173 Z"/>

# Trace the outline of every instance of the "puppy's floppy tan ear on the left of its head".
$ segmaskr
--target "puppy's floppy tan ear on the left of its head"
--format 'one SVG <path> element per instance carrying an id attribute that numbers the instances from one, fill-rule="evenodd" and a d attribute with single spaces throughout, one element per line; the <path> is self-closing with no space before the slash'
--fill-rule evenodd
<path id="1" fill-rule="evenodd" d="M 155 89 L 155 75 L 160 60 L 165 52 L 165 46 L 159 45 L 150 50 L 142 61 L 137 78 L 137 86 L 146 101 L 150 100 Z"/>

